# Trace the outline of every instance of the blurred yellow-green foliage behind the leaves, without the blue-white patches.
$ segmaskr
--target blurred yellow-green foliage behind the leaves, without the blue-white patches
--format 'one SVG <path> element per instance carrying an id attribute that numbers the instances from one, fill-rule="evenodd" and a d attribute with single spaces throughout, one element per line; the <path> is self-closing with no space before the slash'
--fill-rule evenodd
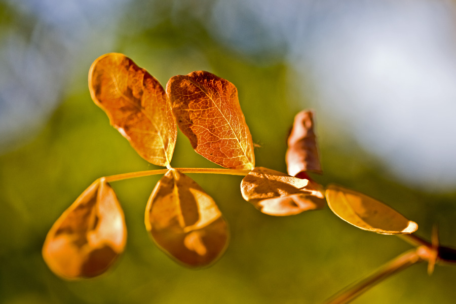
<path id="1" fill-rule="evenodd" d="M 122 52 L 135 58 L 161 83 L 193 70 L 208 70 L 229 80 L 238 89 L 252 139 L 261 145 L 255 150 L 256 164 L 286 171 L 287 132 L 295 113 L 309 107 L 312 96 L 302 95 L 290 85 L 296 83 L 290 75 L 296 74 L 281 56 L 282 45 L 273 52 L 258 52 L 256 57 L 242 49 L 227 49 L 212 39 L 205 29 L 205 17 L 211 10 L 215 9 L 210 1 L 185 5 L 179 1 L 133 2 L 115 23 L 97 28 L 103 39 L 92 36 L 80 53 L 53 57 L 63 58 L 67 64 L 54 64 L 58 75 L 71 71 L 69 80 L 58 86 L 60 105 L 36 138 L 0 156 L 2 304 L 316 303 L 409 248 L 397 238 L 358 230 L 335 218 L 329 208 L 292 217 L 262 215 L 243 200 L 239 191 L 242 178 L 195 174 L 191 177 L 217 202 L 231 231 L 231 245 L 223 258 L 195 272 L 170 260 L 151 244 L 144 230 L 145 202 L 160 179 L 155 176 L 111 184 L 122 202 L 129 231 L 124 255 L 112 271 L 84 282 L 65 282 L 49 271 L 41 257 L 46 233 L 91 180 L 156 168 L 109 127 L 104 113 L 91 101 L 87 72 L 101 54 Z M 18 26 L 14 20 L 23 20 L 14 10 L 10 12 L 8 20 L 2 21 L 6 29 Z M 27 20 L 32 23 L 24 29 L 28 37 L 54 33 L 49 27 L 34 28 L 33 18 Z M 260 29 L 258 26 L 259 36 L 267 38 Z M 11 45 L 3 44 L 2 50 L 7 47 Z M 56 51 L 59 47 L 50 44 L 48 48 Z M 44 62 L 45 66 L 53 63 Z M 36 72 L 43 77 L 42 70 Z M 0 73 L 6 78 L 4 69 Z M 300 87 L 308 86 L 306 79 L 298 80 Z M 26 84 L 21 83 L 19 89 L 28 88 Z M 34 100 L 32 94 L 27 98 Z M 355 141 L 333 135 L 332 122 L 323 120 L 318 112 L 316 117 L 325 169 L 324 176 L 315 177 L 318 182 L 344 184 L 387 203 L 419 223 L 417 233 L 428 239 L 432 225 L 438 222 L 441 243 L 456 244 L 456 193 L 430 194 L 426 188 L 413 191 L 392 180 Z M 179 137 L 175 167 L 215 166 L 194 153 L 180 132 Z M 355 303 L 451 303 L 456 298 L 453 282 L 454 268 L 436 267 L 428 277 L 426 265 L 417 265 Z"/>

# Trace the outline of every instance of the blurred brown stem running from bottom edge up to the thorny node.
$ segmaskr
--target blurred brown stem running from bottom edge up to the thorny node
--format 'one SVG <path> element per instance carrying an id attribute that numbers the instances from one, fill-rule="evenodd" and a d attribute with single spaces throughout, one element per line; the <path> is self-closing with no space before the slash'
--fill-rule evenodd
<path id="1" fill-rule="evenodd" d="M 406 269 L 414 263 L 422 261 L 417 254 L 417 249 L 411 249 L 392 259 L 370 276 L 360 280 L 353 285 L 346 287 L 343 291 L 338 292 L 328 299 L 326 304 L 344 304 L 352 301 L 369 288 L 385 280 L 389 276 Z"/>

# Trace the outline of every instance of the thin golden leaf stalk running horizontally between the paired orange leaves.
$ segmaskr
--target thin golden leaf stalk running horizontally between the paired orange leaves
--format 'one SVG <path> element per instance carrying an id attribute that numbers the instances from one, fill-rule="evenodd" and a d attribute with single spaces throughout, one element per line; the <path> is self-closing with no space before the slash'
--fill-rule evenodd
<path id="1" fill-rule="evenodd" d="M 249 174 L 250 170 L 243 169 L 223 169 L 223 168 L 174 168 L 182 173 L 211 173 L 211 174 L 227 174 L 227 175 L 241 175 Z M 128 172 L 116 175 L 105 176 L 107 182 L 119 181 L 129 178 L 165 174 L 169 169 L 146 170 L 137 172 Z"/>

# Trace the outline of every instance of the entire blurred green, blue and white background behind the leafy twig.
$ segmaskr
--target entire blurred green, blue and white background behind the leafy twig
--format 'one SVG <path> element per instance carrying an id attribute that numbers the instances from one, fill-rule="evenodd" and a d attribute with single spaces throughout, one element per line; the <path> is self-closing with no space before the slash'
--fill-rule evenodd
<path id="1" fill-rule="evenodd" d="M 315 110 L 314 178 L 438 224 L 456 246 L 456 4 L 444 0 L 0 1 L 0 303 L 319 303 L 410 246 L 329 208 L 290 217 L 245 202 L 239 176 L 192 174 L 231 227 L 212 267 L 189 270 L 143 224 L 159 176 L 112 183 L 126 252 L 66 282 L 41 257 L 58 216 L 100 176 L 149 170 L 93 104 L 91 63 L 121 52 L 163 85 L 208 70 L 234 83 L 259 166 L 285 172 L 286 137 Z M 174 167 L 213 167 L 178 135 Z M 418 264 L 355 303 L 453 303 L 455 267 Z"/>

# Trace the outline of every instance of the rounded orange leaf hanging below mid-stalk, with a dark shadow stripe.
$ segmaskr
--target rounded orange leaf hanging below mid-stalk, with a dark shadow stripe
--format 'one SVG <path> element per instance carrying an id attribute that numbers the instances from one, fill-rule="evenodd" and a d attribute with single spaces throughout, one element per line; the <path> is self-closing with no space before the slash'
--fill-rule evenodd
<path id="1" fill-rule="evenodd" d="M 144 222 L 157 245 L 188 267 L 212 263 L 228 243 L 228 227 L 214 200 L 176 169 L 155 186 Z"/>

